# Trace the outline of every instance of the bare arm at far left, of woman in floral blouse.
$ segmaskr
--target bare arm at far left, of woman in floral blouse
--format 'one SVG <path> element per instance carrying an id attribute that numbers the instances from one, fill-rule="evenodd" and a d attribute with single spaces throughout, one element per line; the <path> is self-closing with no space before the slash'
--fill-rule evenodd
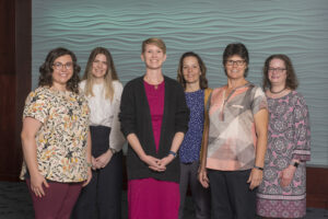
<path id="1" fill-rule="evenodd" d="M 24 160 L 26 162 L 31 176 L 31 189 L 38 197 L 46 195 L 43 185 L 45 185 L 46 187 L 49 186 L 45 177 L 38 172 L 36 158 L 37 146 L 35 136 L 40 126 L 42 123 L 39 120 L 32 117 L 25 117 L 23 119 L 23 129 L 21 134 Z"/>

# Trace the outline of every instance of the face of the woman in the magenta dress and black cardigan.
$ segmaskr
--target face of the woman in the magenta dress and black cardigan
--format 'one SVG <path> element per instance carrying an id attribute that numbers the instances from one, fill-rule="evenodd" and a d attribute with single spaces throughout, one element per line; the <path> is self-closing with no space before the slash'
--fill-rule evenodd
<path id="1" fill-rule="evenodd" d="M 145 67 L 149 69 L 161 69 L 166 60 L 166 55 L 156 45 L 147 44 L 144 53 L 141 54 L 141 60 L 144 61 Z"/>

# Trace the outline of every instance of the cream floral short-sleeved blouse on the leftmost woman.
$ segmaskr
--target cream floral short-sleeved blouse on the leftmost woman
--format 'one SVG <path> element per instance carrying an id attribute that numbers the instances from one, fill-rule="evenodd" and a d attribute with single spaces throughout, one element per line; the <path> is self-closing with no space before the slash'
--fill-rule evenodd
<path id="1" fill-rule="evenodd" d="M 38 171 L 55 182 L 86 180 L 86 139 L 90 110 L 82 94 L 38 88 L 26 99 L 23 118 L 43 125 L 36 134 Z M 26 165 L 23 163 L 21 178 Z"/>

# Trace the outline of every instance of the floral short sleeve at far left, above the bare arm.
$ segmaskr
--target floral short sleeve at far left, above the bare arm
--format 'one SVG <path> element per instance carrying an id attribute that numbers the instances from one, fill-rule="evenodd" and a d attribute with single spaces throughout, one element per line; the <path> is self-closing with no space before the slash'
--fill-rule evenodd
<path id="1" fill-rule="evenodd" d="M 45 94 L 36 91 L 31 92 L 25 101 L 23 118 L 32 117 L 45 123 L 49 115 L 49 104 Z"/>

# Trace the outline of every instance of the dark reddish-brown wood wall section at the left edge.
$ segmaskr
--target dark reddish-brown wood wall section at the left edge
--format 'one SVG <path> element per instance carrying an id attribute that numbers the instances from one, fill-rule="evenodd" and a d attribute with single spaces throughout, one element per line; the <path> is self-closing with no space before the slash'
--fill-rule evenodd
<path id="1" fill-rule="evenodd" d="M 0 0 L 0 180 L 17 181 L 21 117 L 32 78 L 32 0 Z"/>

